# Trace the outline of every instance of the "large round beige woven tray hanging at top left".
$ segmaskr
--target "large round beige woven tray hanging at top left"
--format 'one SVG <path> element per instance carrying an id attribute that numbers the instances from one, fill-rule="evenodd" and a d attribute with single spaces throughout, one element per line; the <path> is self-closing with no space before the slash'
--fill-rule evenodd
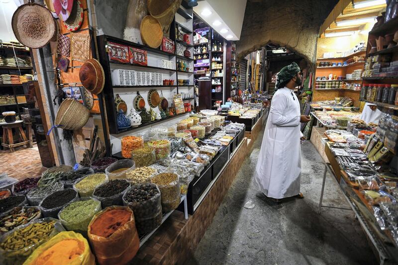
<path id="1" fill-rule="evenodd" d="M 41 48 L 57 34 L 51 12 L 37 3 L 19 6 L 12 15 L 12 31 L 16 39 L 29 48 Z"/>

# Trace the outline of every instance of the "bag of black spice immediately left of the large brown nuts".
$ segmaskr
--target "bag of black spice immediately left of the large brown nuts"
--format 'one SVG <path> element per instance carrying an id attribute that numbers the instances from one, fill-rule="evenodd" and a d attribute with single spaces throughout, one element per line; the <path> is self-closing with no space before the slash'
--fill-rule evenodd
<path id="1" fill-rule="evenodd" d="M 126 179 L 113 179 L 96 187 L 93 198 L 101 202 L 102 208 L 112 205 L 123 205 L 122 197 L 130 182 Z"/>

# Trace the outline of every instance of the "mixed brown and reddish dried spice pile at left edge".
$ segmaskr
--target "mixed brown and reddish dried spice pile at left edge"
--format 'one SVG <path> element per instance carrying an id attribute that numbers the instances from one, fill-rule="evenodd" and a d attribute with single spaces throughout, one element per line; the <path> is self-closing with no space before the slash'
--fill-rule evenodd
<path id="1" fill-rule="evenodd" d="M 40 215 L 36 208 L 23 208 L 17 206 L 6 216 L 0 219 L 0 234 L 9 232 L 17 226 L 29 223 L 30 220 Z"/>

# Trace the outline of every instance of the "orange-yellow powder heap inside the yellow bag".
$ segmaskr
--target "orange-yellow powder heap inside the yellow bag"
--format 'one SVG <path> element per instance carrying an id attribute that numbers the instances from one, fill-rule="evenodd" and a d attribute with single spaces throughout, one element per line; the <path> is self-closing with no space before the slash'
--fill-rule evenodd
<path id="1" fill-rule="evenodd" d="M 77 239 L 64 239 L 43 251 L 31 265 L 70 264 L 84 253 L 84 243 Z"/>

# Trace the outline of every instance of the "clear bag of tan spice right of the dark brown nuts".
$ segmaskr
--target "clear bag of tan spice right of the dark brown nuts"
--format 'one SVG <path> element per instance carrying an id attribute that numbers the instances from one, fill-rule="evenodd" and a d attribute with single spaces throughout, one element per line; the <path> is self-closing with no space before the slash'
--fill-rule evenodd
<path id="1" fill-rule="evenodd" d="M 180 205 L 181 187 L 177 174 L 160 173 L 152 177 L 151 182 L 159 187 L 164 212 L 170 212 Z"/>

